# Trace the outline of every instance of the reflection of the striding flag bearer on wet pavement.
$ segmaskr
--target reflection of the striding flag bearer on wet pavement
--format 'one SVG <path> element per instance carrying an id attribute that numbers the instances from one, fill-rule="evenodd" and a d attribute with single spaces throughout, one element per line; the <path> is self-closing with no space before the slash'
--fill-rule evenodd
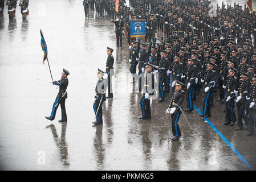
<path id="1" fill-rule="evenodd" d="M 50 127 L 51 133 L 54 137 L 54 142 L 59 150 L 60 158 L 63 162 L 64 166 L 70 166 L 68 162 L 68 148 L 66 143 L 66 130 L 67 130 L 67 123 L 62 123 L 62 133 L 60 135 L 60 138 L 58 137 L 58 133 L 56 131 L 56 128 L 54 125 L 46 126 L 46 128 Z"/>

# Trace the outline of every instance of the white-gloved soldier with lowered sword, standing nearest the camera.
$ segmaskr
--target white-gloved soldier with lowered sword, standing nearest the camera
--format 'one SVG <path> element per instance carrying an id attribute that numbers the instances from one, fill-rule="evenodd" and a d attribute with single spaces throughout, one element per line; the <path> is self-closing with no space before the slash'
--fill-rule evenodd
<path id="1" fill-rule="evenodd" d="M 173 93 L 172 100 L 170 100 L 170 105 L 166 110 L 166 113 L 171 114 L 172 118 L 172 133 L 173 137 L 170 138 L 172 140 L 178 140 L 181 137 L 180 126 L 178 126 L 178 119 L 181 115 L 182 103 L 185 98 L 185 91 L 182 90 L 184 88 L 184 84 L 180 81 L 177 81 L 175 84 L 175 91 Z"/>

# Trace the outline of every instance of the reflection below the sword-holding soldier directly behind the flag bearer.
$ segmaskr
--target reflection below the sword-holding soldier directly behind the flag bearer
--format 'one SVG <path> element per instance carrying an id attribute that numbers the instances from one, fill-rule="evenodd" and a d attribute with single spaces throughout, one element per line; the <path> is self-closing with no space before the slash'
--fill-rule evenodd
<path id="1" fill-rule="evenodd" d="M 96 154 L 96 165 L 98 168 L 104 167 L 105 159 L 105 146 L 102 140 L 102 125 L 96 126 L 96 132 L 94 137 L 94 153 Z"/>

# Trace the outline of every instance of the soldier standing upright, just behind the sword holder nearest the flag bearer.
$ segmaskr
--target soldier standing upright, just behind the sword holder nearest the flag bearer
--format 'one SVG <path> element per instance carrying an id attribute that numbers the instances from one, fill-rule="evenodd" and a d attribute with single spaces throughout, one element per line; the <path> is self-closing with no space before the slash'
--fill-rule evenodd
<path id="1" fill-rule="evenodd" d="M 114 75 L 114 57 L 112 55 L 114 49 L 107 47 L 107 63 L 106 63 L 106 71 L 105 73 L 108 74 L 108 96 L 106 98 L 113 98 L 113 90 L 112 90 L 112 76 Z"/>

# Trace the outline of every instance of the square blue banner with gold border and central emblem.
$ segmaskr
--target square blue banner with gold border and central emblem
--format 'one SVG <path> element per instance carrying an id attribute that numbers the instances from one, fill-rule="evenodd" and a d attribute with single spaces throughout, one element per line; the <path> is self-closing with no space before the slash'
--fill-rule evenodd
<path id="1" fill-rule="evenodd" d="M 145 19 L 131 20 L 131 38 L 144 37 L 146 34 Z"/>

